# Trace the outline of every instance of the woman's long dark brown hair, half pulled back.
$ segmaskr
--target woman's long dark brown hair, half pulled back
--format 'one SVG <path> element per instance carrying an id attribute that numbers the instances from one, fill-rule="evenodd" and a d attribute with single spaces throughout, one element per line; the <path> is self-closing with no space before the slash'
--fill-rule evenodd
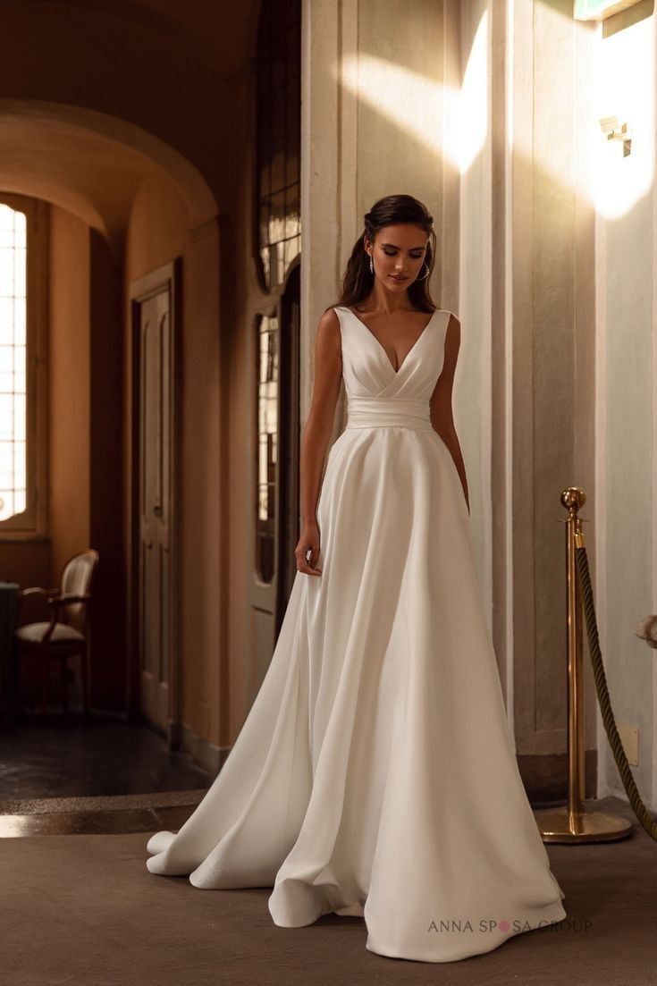
<path id="1" fill-rule="evenodd" d="M 436 234 L 433 231 L 433 218 L 427 207 L 413 198 L 412 195 L 386 195 L 375 202 L 369 212 L 365 213 L 365 229 L 356 240 L 347 261 L 346 271 L 342 278 L 340 300 L 338 305 L 355 306 L 364 301 L 370 294 L 374 283 L 374 274 L 370 270 L 370 258 L 365 250 L 364 236 L 373 244 L 379 230 L 385 226 L 397 226 L 408 223 L 419 226 L 431 237 L 424 254 L 424 262 L 429 272 L 421 280 L 414 280 L 408 286 L 408 299 L 413 308 L 420 312 L 435 312 L 436 305 L 429 293 L 429 278 L 433 270 L 436 256 Z M 420 268 L 420 275 L 425 268 Z"/>

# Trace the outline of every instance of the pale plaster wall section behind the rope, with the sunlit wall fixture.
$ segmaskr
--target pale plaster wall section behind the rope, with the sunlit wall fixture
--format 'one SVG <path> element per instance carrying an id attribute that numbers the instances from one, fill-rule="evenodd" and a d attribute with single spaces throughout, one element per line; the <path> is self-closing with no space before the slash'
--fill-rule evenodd
<path id="1" fill-rule="evenodd" d="M 637 786 L 657 798 L 654 651 L 634 636 L 657 611 L 655 410 L 655 31 L 652 5 L 595 32 L 591 179 L 596 250 L 597 496 L 591 536 L 601 600 L 600 634 L 617 720 L 638 730 Z M 617 115 L 632 132 L 630 154 L 607 141 L 598 120 Z M 595 135 L 595 136 L 594 136 Z M 625 797 L 599 722 L 600 794 Z"/>

